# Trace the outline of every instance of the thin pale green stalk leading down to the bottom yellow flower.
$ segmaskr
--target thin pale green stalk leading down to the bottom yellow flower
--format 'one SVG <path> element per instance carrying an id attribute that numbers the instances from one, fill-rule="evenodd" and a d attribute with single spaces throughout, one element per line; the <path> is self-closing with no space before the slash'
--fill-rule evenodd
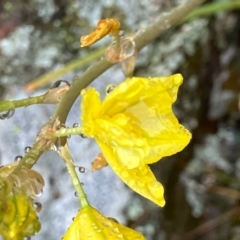
<path id="1" fill-rule="evenodd" d="M 71 153 L 70 153 L 70 150 L 69 150 L 67 144 L 59 147 L 57 152 L 60 155 L 60 157 L 64 160 L 64 162 L 67 166 L 68 173 L 72 179 L 73 186 L 75 187 L 75 190 L 77 192 L 81 207 L 84 208 L 84 207 L 89 206 L 90 204 L 88 202 L 87 195 L 85 194 L 85 192 L 82 188 L 82 184 L 76 173 L 75 167 L 73 165 L 73 159 L 72 159 L 72 156 L 71 156 Z"/>

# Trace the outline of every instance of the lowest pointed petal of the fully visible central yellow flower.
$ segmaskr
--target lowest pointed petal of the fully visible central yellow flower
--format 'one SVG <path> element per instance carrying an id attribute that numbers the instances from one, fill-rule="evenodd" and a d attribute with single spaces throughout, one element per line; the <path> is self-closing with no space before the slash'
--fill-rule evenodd
<path id="1" fill-rule="evenodd" d="M 157 205 L 161 207 L 165 205 L 163 186 L 156 180 L 151 169 L 147 165 L 141 164 L 137 168 L 126 168 L 121 164 L 122 160 L 118 158 L 111 147 L 103 142 L 97 142 L 109 165 L 123 182 L 135 192 Z M 128 157 L 131 159 L 131 156 Z"/>

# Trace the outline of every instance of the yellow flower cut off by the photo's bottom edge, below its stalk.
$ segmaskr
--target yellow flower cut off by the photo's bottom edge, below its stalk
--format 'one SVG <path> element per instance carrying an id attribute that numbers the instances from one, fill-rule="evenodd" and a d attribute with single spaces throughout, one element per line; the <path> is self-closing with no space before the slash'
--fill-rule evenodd
<path id="1" fill-rule="evenodd" d="M 103 216 L 91 206 L 80 210 L 63 240 L 145 240 L 144 236 L 111 218 Z"/>

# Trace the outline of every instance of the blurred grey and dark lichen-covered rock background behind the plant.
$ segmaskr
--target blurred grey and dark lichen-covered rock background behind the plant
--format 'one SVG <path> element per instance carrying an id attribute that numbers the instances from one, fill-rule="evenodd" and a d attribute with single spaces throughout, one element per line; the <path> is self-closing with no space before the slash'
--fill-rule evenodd
<path id="1" fill-rule="evenodd" d="M 39 95 L 56 80 L 71 83 L 81 75 L 110 43 L 106 37 L 80 48 L 80 36 L 99 19 L 117 18 L 125 34 L 136 33 L 179 3 L 183 0 L 1 0 L 0 99 Z M 148 240 L 240 239 L 240 1 L 207 4 L 211 11 L 179 22 L 146 46 L 134 72 L 184 76 L 174 112 L 192 132 L 192 141 L 181 153 L 151 165 L 165 187 L 166 206 L 159 208 L 133 193 L 110 167 L 79 173 L 93 206 Z M 86 62 L 86 56 L 92 60 Z M 77 62 L 69 70 L 71 61 Z M 39 81 L 53 70 L 62 73 Z M 107 84 L 122 80 L 117 64 L 92 85 L 104 96 Z M 33 91 L 26 91 L 29 86 Z M 53 111 L 54 106 L 30 106 L 0 120 L 1 165 L 24 154 Z M 79 114 L 78 100 L 67 125 L 79 122 Z M 89 169 L 99 153 L 94 141 L 72 137 L 69 144 L 76 164 Z M 34 169 L 46 186 L 39 198 L 42 231 L 32 239 L 60 239 L 79 208 L 70 178 L 54 152 L 44 153 Z"/>

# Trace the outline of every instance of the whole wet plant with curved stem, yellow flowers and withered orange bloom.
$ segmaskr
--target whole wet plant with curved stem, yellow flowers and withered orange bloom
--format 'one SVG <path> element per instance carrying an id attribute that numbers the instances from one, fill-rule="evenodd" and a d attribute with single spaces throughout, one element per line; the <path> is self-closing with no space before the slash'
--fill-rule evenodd
<path id="1" fill-rule="evenodd" d="M 133 71 L 137 53 L 201 2 L 184 1 L 145 31 L 132 36 L 122 34 L 120 21 L 102 19 L 94 31 L 80 38 L 80 44 L 90 46 L 106 35 L 112 37 L 112 42 L 104 57 L 71 85 L 60 80 L 41 96 L 0 101 L 0 119 L 6 121 L 19 107 L 56 104 L 55 112 L 42 126 L 32 147 L 25 149 L 23 157 L 17 156 L 16 161 L 0 168 L 0 234 L 4 239 L 24 239 L 41 229 L 37 216 L 41 204 L 36 199 L 43 192 L 44 179 L 32 167 L 47 150 L 55 151 L 65 162 L 81 208 L 64 240 L 145 239 L 140 232 L 105 217 L 91 206 L 91 199 L 87 198 L 76 173 L 67 140 L 71 135 L 93 138 L 101 149 L 92 163 L 93 171 L 109 165 L 133 191 L 160 207 L 165 205 L 164 188 L 148 165 L 181 151 L 191 139 L 191 133 L 172 111 L 183 77 L 178 73 L 145 78 L 133 76 Z M 107 86 L 101 101 L 99 92 L 88 85 L 116 63 L 121 64 L 126 79 L 117 86 Z M 76 122 L 81 125 L 67 127 L 68 112 L 79 96 L 82 113 L 81 121 Z M 80 167 L 80 171 L 84 170 Z"/>

